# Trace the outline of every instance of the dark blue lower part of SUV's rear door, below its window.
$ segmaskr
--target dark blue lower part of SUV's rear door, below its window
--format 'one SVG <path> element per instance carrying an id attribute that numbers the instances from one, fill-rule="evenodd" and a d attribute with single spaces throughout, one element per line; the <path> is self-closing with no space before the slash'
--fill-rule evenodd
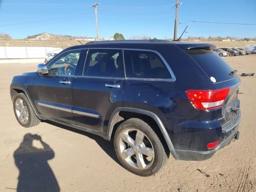
<path id="1" fill-rule="evenodd" d="M 118 84 L 109 88 L 105 84 Z M 78 125 L 104 132 L 112 112 L 122 107 L 124 79 L 77 77 L 73 85 L 73 115 Z"/>

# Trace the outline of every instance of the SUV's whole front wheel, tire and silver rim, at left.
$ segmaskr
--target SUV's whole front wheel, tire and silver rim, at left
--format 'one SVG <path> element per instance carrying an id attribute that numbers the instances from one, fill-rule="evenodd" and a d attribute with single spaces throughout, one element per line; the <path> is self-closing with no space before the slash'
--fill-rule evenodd
<path id="1" fill-rule="evenodd" d="M 40 123 L 24 93 L 16 94 L 14 97 L 13 110 L 19 124 L 24 127 L 32 127 Z"/>

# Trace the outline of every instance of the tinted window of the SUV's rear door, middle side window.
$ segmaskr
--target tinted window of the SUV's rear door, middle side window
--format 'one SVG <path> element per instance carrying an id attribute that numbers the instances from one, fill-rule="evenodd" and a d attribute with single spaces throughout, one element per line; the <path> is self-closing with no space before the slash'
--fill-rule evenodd
<path id="1" fill-rule="evenodd" d="M 124 77 L 122 50 L 89 49 L 84 76 Z"/>

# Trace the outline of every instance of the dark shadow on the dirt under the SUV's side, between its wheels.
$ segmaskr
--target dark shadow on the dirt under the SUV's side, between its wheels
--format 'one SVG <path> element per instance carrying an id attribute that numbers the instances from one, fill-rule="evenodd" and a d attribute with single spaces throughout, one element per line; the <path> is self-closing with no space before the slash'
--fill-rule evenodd
<path id="1" fill-rule="evenodd" d="M 89 132 L 85 132 L 82 130 L 78 130 L 78 129 L 63 125 L 63 124 L 56 123 L 56 122 L 52 122 L 52 121 L 48 121 L 48 120 L 45 120 L 44 122 L 54 125 L 54 126 L 57 126 L 57 127 L 60 127 L 60 128 L 63 128 L 63 129 L 66 129 L 66 130 L 69 130 L 69 131 L 72 131 L 72 132 L 76 132 L 78 134 L 82 134 L 84 136 L 87 136 L 87 137 L 95 140 L 96 143 L 102 148 L 102 150 L 104 150 L 104 152 L 106 152 L 106 154 L 108 154 L 108 156 L 110 156 L 116 163 L 118 163 L 120 166 L 122 166 L 122 164 L 120 163 L 120 161 L 118 160 L 118 158 L 116 156 L 116 152 L 114 150 L 114 144 L 112 141 L 105 140 L 104 138 L 102 138 L 98 135 L 95 135 L 95 134 L 92 134 Z"/>

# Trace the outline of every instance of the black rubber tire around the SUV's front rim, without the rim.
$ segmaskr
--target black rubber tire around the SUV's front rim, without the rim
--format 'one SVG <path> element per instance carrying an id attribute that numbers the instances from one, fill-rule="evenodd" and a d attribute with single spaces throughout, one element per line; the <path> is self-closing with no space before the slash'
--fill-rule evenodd
<path id="1" fill-rule="evenodd" d="M 16 105 L 15 105 L 16 100 L 18 100 L 18 99 L 21 99 L 24 103 L 24 106 L 26 106 L 27 109 L 28 109 L 28 120 L 27 120 L 27 122 L 22 122 L 18 118 L 18 114 L 16 112 Z M 14 110 L 14 114 L 15 114 L 15 117 L 16 117 L 17 121 L 23 127 L 33 127 L 33 126 L 36 126 L 40 123 L 40 119 L 37 118 L 36 114 L 34 113 L 32 107 L 31 107 L 30 103 L 28 102 L 28 99 L 27 99 L 27 97 L 24 93 L 16 94 L 16 96 L 14 97 L 13 110 Z"/>

